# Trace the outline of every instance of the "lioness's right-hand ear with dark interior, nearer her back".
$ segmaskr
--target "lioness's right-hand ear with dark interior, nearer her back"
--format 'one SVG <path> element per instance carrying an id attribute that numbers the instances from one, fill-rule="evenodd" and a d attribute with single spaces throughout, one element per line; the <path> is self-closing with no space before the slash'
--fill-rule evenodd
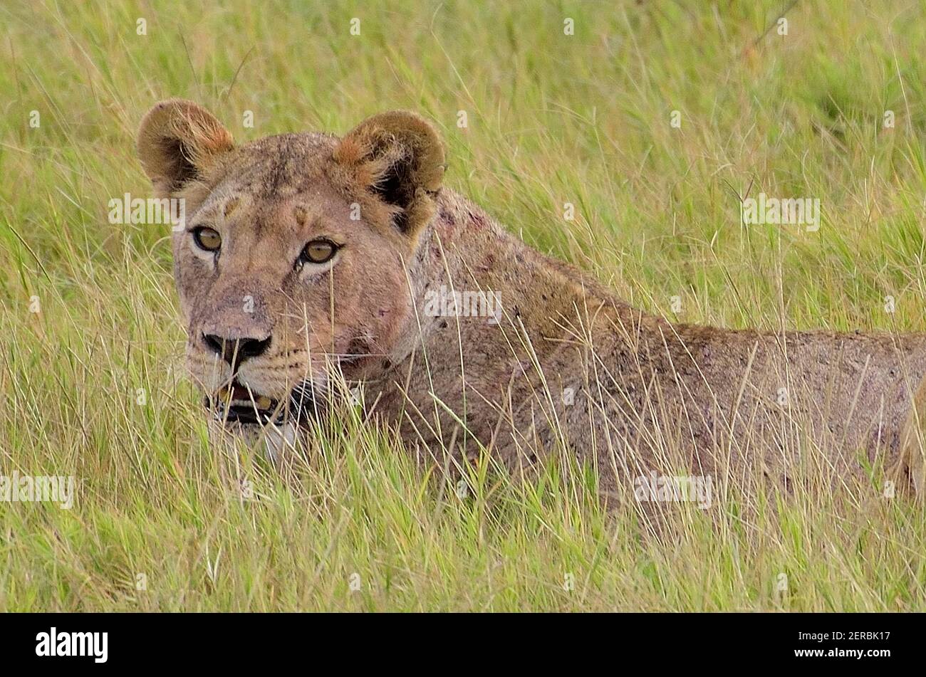
<path id="1" fill-rule="evenodd" d="M 422 117 L 407 111 L 369 117 L 341 140 L 334 160 L 390 207 L 401 231 L 415 234 L 431 219 L 444 178 L 444 143 Z"/>

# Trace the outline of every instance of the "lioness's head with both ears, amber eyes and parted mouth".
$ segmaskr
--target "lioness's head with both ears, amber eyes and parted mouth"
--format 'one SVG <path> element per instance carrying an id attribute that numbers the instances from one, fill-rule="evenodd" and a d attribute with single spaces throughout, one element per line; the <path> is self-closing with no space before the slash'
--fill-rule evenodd
<path id="1" fill-rule="evenodd" d="M 172 245 L 187 362 L 221 416 L 281 420 L 332 369 L 375 378 L 411 350 L 409 269 L 444 173 L 423 119 L 237 146 L 205 109 L 170 100 L 144 117 L 138 153 L 157 196 L 185 201 Z"/>

